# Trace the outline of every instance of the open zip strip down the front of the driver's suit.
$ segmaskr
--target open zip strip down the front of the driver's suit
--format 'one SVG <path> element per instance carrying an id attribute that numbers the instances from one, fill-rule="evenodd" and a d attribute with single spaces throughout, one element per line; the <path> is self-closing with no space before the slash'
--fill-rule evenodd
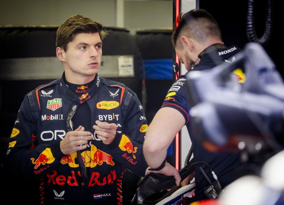
<path id="1" fill-rule="evenodd" d="M 72 125 L 71 118 L 75 114 L 77 108 L 78 108 L 78 105 L 76 103 L 73 103 L 71 105 L 70 110 L 67 113 L 67 119 L 66 119 L 67 132 L 73 131 L 73 125 Z M 78 158 L 79 166 L 81 167 L 81 171 L 83 173 L 83 176 L 85 178 L 88 178 L 85 163 L 83 162 L 80 150 L 77 151 L 77 158 Z"/>

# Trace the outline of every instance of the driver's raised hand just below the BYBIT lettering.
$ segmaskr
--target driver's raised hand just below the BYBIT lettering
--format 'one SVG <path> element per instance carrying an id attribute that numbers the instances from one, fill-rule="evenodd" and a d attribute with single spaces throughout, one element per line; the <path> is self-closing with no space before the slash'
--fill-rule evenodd
<path id="1" fill-rule="evenodd" d="M 98 123 L 97 123 L 98 122 Z M 104 144 L 110 144 L 114 140 L 116 135 L 117 126 L 114 123 L 96 121 L 98 125 L 94 125 L 93 128 L 96 130 L 98 138 L 103 141 Z"/>

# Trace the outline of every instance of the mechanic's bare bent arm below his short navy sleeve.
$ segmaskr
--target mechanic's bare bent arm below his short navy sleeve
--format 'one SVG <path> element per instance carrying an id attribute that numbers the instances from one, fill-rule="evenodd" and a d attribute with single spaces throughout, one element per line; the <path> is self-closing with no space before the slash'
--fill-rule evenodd
<path id="1" fill-rule="evenodd" d="M 152 120 L 146 139 L 143 145 L 143 153 L 149 168 L 160 167 L 167 155 L 167 149 L 172 143 L 175 135 L 185 124 L 183 115 L 176 109 L 165 107 L 161 108 Z M 180 183 L 180 175 L 175 167 L 166 162 L 165 167 L 159 171 L 149 172 L 161 173 L 167 176 L 174 176 L 177 186 Z"/>

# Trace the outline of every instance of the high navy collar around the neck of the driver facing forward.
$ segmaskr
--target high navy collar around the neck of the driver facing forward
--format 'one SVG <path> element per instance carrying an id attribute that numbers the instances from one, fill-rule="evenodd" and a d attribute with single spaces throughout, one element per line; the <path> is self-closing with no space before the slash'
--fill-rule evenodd
<path id="1" fill-rule="evenodd" d="M 62 77 L 60 79 L 60 88 L 62 91 L 62 94 L 69 98 L 72 101 L 75 101 L 78 105 L 83 104 L 86 100 L 91 98 L 96 94 L 96 92 L 99 90 L 99 87 L 101 85 L 99 75 L 96 74 L 94 78 L 94 82 L 92 83 L 91 87 L 89 88 L 88 92 L 85 94 L 82 94 L 81 97 L 78 97 L 78 95 L 75 95 L 74 92 L 72 92 L 69 88 L 68 85 L 65 82 L 65 72 L 63 72 Z"/>

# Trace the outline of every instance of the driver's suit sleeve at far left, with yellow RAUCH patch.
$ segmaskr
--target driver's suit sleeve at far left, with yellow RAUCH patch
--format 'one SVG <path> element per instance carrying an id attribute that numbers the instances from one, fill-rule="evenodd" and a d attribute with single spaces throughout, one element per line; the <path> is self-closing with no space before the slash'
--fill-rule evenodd
<path id="1" fill-rule="evenodd" d="M 59 143 L 37 143 L 37 103 L 35 92 L 25 96 L 12 130 L 5 167 L 14 177 L 39 178 L 56 167 L 64 156 Z"/>

